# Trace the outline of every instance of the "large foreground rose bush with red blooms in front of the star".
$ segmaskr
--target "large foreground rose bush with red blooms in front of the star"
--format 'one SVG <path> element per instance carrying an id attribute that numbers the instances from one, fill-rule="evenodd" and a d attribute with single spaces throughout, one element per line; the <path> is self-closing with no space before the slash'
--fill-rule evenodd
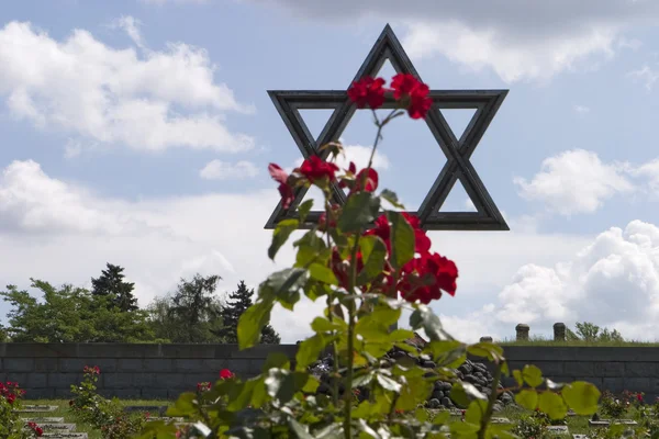
<path id="1" fill-rule="evenodd" d="M 293 267 L 259 285 L 258 300 L 241 316 L 237 329 L 239 346 L 247 349 L 258 342 L 275 304 L 292 311 L 302 294 L 323 301 L 324 314 L 313 319 L 313 335 L 300 344 L 294 367 L 283 353 L 272 353 L 258 376 L 244 381 L 232 376 L 203 392 L 185 393 L 168 415 L 189 417 L 193 423 L 189 432 L 154 423 L 143 438 L 439 438 L 446 432 L 454 438 L 512 438 L 512 426 L 490 423 L 498 395 L 510 390 L 521 406 L 538 408 L 551 419 L 565 417 L 568 407 L 578 414 L 595 413 L 600 393 L 592 384 L 554 383 L 533 365 L 510 371 L 501 347 L 454 339 L 428 306 L 444 293 L 456 294 L 458 269 L 432 250 L 418 218 L 401 212 L 404 207 L 394 192 L 376 193 L 379 178 L 372 161 L 382 130 L 405 114 L 424 119 L 433 101 L 428 87 L 411 75 L 396 75 L 390 89 L 384 85 L 381 78 L 364 78 L 348 90 L 349 99 L 358 108 L 369 108 L 375 117 L 376 140 L 365 169 L 355 164 L 339 169 L 337 143 L 322 146 L 328 160 L 311 156 L 290 175 L 276 164 L 268 168 L 288 209 L 272 234 L 271 259 L 312 210 L 313 201 L 293 205 L 295 189 L 315 185 L 325 196 L 319 225 L 293 241 Z M 380 119 L 376 110 L 388 99 L 395 108 Z M 343 206 L 331 202 L 334 184 L 348 192 Z M 403 311 L 410 313 L 411 330 L 395 326 Z M 414 330 L 429 338 L 422 352 L 405 342 Z M 409 356 L 384 361 L 384 353 L 394 347 Z M 316 393 L 319 379 L 309 371 L 326 351 L 334 359 L 330 395 Z M 458 379 L 456 368 L 468 354 L 493 364 L 489 394 Z M 436 368 L 416 365 L 413 360 L 418 356 Z M 512 375 L 516 385 L 500 389 L 503 375 Z M 451 420 L 448 412 L 424 406 L 439 379 L 453 383 L 450 398 L 466 409 L 462 419 Z"/>

